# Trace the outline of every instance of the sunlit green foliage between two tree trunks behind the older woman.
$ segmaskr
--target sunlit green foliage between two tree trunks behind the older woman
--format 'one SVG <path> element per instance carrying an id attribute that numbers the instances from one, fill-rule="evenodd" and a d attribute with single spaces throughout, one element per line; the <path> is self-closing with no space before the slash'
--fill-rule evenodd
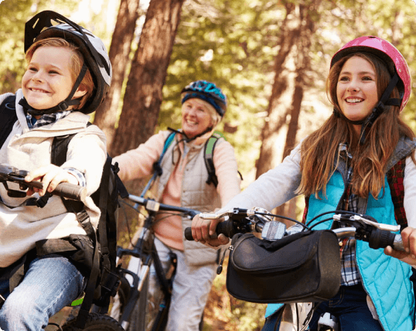
<path id="1" fill-rule="evenodd" d="M 251 6 L 240 1 L 206 1 L 203 8 L 185 3 L 159 118 L 160 128 L 181 127 L 181 89 L 194 80 L 215 82 L 228 99 L 219 130 L 226 126 L 224 134 L 235 146 L 243 176 L 254 168 L 259 152 L 279 30 L 279 15 L 274 14 L 280 11 L 276 5 L 267 7 L 268 1 L 245 2 Z"/>

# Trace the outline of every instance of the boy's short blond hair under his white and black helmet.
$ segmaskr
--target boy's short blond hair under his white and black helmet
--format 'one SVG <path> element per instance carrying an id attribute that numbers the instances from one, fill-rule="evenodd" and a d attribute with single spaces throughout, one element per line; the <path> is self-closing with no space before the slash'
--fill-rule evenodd
<path id="1" fill-rule="evenodd" d="M 70 42 L 67 42 L 65 39 L 58 38 L 58 37 L 51 37 L 46 39 L 40 39 L 37 42 L 33 43 L 32 46 L 30 46 L 29 49 L 27 49 L 26 52 L 26 61 L 27 63 L 30 63 L 32 60 L 33 54 L 35 54 L 35 51 L 39 49 L 39 47 L 65 47 L 73 52 L 73 56 L 71 56 L 71 63 L 70 63 L 70 71 L 71 76 L 73 79 L 73 82 L 75 83 L 75 80 L 77 79 L 82 64 L 84 63 L 84 57 L 82 56 L 81 52 L 78 50 L 78 47 L 74 44 L 71 44 Z M 80 89 L 85 89 L 87 93 L 82 96 L 80 100 L 80 104 L 75 105 L 74 109 L 80 109 L 82 108 L 88 99 L 90 99 L 90 96 L 92 96 L 92 92 L 94 91 L 95 85 L 94 80 L 92 79 L 92 75 L 90 73 L 90 69 L 87 69 L 87 72 L 85 73 L 84 78 L 82 79 L 80 86 L 78 87 Z"/>

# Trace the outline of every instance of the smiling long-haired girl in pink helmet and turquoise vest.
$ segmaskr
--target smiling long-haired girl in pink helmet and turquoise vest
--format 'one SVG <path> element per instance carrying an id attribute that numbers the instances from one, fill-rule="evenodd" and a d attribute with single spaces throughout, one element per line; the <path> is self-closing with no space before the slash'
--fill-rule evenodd
<path id="1" fill-rule="evenodd" d="M 341 209 L 373 216 L 379 223 L 408 226 L 402 232 L 406 253 L 391 247 L 369 249 L 368 243 L 353 237 L 341 242 L 341 289 L 319 304 L 310 330 L 317 330 L 324 312 L 338 317 L 343 331 L 413 330 L 415 299 L 409 278 L 416 264 L 416 143 L 399 118 L 410 89 L 408 65 L 393 45 L 377 37 L 348 42 L 332 58 L 327 80 L 333 115 L 283 163 L 224 207 L 271 210 L 305 194 L 304 221 Z M 315 229 L 331 226 L 326 222 Z M 223 235 L 209 239 L 215 227 L 195 217 L 192 235 L 212 245 L 228 242 Z M 263 330 L 275 330 L 280 307 L 268 306 Z"/>

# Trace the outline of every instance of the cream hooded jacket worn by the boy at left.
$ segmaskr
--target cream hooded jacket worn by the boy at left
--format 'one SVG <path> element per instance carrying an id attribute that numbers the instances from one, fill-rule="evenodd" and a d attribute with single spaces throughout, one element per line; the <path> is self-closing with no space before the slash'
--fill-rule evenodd
<path id="1" fill-rule="evenodd" d="M 10 94 L 0 96 L 0 103 Z M 56 123 L 29 130 L 23 107 L 18 101 L 23 98 L 16 92 L 16 114 L 18 120 L 11 134 L 0 149 L 0 163 L 13 165 L 20 170 L 35 170 L 51 163 L 51 144 L 54 137 L 77 133 L 68 145 L 67 161 L 61 168 L 75 168 L 85 175 L 87 198 L 85 210 L 91 223 L 97 227 L 99 208 L 90 195 L 99 187 L 106 159 L 106 139 L 95 125 L 87 127 L 90 116 L 73 111 Z M 11 198 L 4 185 L 0 184 L 0 267 L 5 268 L 35 247 L 41 239 L 57 239 L 71 234 L 85 235 L 74 213 L 68 213 L 59 196 L 52 196 L 44 208 L 20 206 L 25 198 Z M 8 206 L 16 208 L 8 208 Z"/>

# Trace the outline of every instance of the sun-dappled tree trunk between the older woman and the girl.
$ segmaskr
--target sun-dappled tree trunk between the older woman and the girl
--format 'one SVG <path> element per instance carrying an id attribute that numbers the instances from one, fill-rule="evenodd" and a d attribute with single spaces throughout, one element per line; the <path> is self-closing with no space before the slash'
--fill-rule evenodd
<path id="1" fill-rule="evenodd" d="M 304 87 L 307 85 L 306 77 L 311 70 L 309 52 L 315 29 L 313 17 L 317 17 L 317 7 L 320 2 L 321 0 L 316 0 L 308 6 L 303 4 L 287 6 L 286 19 L 289 15 L 291 19 L 286 25 L 283 24 L 285 28 L 281 32 L 281 51 L 276 56 L 276 75 L 267 109 L 269 121 L 262 130 L 262 148 L 257 160 L 256 177 L 275 166 L 278 157 L 275 146 L 279 143 L 277 137 L 281 130 L 286 129 L 288 118 L 290 120 L 287 125 L 282 160 L 290 154 L 296 144 L 300 107 Z M 296 218 L 295 200 L 279 206 L 274 213 Z"/>

